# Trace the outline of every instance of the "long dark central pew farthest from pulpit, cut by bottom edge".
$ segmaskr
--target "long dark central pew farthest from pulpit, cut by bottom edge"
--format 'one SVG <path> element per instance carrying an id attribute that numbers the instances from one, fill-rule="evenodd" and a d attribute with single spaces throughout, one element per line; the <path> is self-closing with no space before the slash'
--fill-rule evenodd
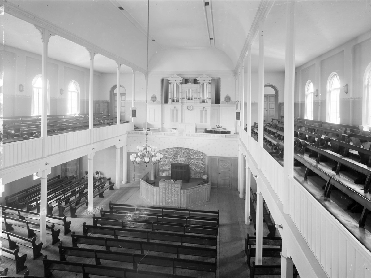
<path id="1" fill-rule="evenodd" d="M 72 272 L 74 274 L 81 273 L 84 275 L 84 277 L 89 277 L 89 275 L 98 275 L 104 277 L 120 278 L 189 278 L 189 276 L 165 274 L 161 272 L 141 271 L 137 269 L 118 268 L 112 266 L 81 264 L 76 262 L 54 261 L 48 260 L 47 256 L 43 257 L 43 265 L 44 277 L 51 277 L 51 270 L 54 270 Z"/>

